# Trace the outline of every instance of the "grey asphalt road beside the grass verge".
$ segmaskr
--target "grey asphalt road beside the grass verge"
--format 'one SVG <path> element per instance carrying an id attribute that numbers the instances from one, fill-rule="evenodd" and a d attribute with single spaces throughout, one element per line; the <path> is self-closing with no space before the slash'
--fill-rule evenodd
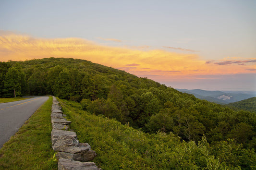
<path id="1" fill-rule="evenodd" d="M 0 103 L 0 148 L 49 97 Z"/>

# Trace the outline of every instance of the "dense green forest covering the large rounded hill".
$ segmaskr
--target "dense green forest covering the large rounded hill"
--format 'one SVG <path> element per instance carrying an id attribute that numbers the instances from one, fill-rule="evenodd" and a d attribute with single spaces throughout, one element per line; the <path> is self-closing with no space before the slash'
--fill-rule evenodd
<path id="1" fill-rule="evenodd" d="M 256 148 L 256 114 L 200 100 L 147 78 L 85 60 L 49 58 L 0 63 L 0 95 L 54 95 L 144 132 L 172 132 L 215 145 L 229 138 Z M 14 74 L 15 73 L 15 74 Z"/>

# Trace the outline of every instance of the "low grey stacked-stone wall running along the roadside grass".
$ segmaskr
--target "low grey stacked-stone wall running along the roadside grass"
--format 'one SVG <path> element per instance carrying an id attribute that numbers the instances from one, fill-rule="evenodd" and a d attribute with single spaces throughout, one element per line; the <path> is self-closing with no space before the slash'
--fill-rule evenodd
<path id="1" fill-rule="evenodd" d="M 71 121 L 63 117 L 56 97 L 52 97 L 51 123 L 51 143 L 53 150 L 58 152 L 58 170 L 101 170 L 94 162 L 87 162 L 96 156 L 96 152 L 89 144 L 79 143 L 75 132 L 68 131 Z"/>

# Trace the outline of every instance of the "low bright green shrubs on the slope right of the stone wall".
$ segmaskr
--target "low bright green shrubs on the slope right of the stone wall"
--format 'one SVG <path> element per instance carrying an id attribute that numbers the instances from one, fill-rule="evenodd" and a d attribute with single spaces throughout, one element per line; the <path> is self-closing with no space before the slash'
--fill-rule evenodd
<path id="1" fill-rule="evenodd" d="M 146 134 L 129 124 L 123 125 L 103 115 L 74 108 L 72 101 L 60 101 L 79 141 L 92 146 L 97 153 L 94 162 L 104 170 L 238 170 L 255 167 L 254 149 L 244 149 L 234 140 L 211 146 L 205 136 L 196 144 L 182 141 L 173 133 Z"/>

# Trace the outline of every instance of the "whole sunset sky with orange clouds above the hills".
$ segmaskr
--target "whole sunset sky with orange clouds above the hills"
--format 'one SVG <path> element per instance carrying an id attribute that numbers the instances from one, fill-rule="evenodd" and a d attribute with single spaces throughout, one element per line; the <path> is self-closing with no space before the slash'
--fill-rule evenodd
<path id="1" fill-rule="evenodd" d="M 173 88 L 256 91 L 256 0 L 0 0 L 0 61 L 75 58 Z"/>

